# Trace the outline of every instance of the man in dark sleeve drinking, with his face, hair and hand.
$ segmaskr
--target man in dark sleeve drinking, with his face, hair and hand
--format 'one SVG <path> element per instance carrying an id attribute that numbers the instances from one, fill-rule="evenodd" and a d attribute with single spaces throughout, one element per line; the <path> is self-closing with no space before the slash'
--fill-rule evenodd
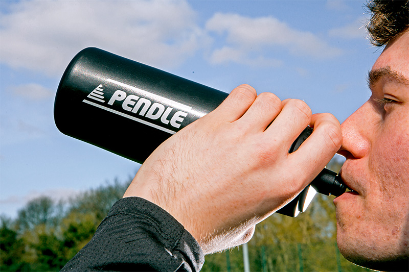
<path id="1" fill-rule="evenodd" d="M 370 31 L 385 26 L 376 22 L 380 17 L 391 20 L 394 32 L 380 31 L 387 46 L 369 75 L 372 96 L 342 132 L 334 116 L 311 115 L 302 101 L 239 86 L 152 153 L 63 270 L 199 270 L 203 253 L 248 241 L 255 225 L 297 195 L 338 150 L 347 158 L 342 178 L 353 189 L 334 201 L 340 252 L 374 269 L 407 269 L 408 2 L 370 6 Z M 288 154 L 307 125 L 314 132 Z"/>

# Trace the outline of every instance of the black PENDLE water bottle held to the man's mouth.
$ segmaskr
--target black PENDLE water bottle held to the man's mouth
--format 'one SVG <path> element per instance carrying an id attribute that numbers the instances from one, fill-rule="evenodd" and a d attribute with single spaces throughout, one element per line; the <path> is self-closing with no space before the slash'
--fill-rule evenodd
<path id="1" fill-rule="evenodd" d="M 55 98 L 54 119 L 66 135 L 143 163 L 163 141 L 214 110 L 227 96 L 91 47 L 79 52 L 66 68 Z M 289 152 L 297 150 L 311 132 L 306 128 Z M 328 195 L 343 193 L 345 186 L 336 173 L 328 171 L 324 169 L 311 186 L 278 212 L 297 216 L 308 206 L 308 195 L 321 188 Z"/>

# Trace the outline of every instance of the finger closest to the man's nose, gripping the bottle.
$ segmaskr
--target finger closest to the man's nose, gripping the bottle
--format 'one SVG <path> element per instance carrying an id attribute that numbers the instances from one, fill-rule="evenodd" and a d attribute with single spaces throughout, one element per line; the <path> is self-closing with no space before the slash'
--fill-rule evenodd
<path id="1" fill-rule="evenodd" d="M 339 121 L 329 113 L 314 114 L 310 126 L 313 133 L 301 144 L 289 159 L 300 167 L 300 175 L 305 177 L 306 186 L 328 164 L 342 143 Z"/>

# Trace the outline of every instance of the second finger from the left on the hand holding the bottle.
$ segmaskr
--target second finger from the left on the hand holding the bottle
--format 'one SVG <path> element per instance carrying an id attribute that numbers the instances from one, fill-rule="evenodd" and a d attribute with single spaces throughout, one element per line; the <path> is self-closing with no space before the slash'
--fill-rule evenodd
<path id="1" fill-rule="evenodd" d="M 274 93 L 264 92 L 257 96 L 252 106 L 237 120 L 237 123 L 251 128 L 255 132 L 263 132 L 280 113 L 282 103 Z M 251 124 L 251 126 L 248 126 Z"/>

